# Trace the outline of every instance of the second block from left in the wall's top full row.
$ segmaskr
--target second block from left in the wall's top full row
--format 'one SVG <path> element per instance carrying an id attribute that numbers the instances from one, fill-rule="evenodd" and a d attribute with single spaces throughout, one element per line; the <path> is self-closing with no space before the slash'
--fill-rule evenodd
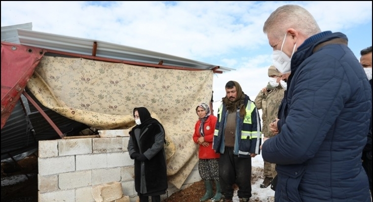
<path id="1" fill-rule="evenodd" d="M 58 140 L 58 154 L 70 156 L 92 153 L 92 138 L 60 139 Z"/>

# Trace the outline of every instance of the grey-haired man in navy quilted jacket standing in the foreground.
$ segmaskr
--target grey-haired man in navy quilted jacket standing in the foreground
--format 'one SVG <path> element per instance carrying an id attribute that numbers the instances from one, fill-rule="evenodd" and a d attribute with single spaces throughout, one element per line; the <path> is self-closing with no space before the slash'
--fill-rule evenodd
<path id="1" fill-rule="evenodd" d="M 273 65 L 289 73 L 281 130 L 262 144 L 277 165 L 275 202 L 371 202 L 361 153 L 372 90 L 346 35 L 321 32 L 298 5 L 277 8 L 263 32 Z"/>

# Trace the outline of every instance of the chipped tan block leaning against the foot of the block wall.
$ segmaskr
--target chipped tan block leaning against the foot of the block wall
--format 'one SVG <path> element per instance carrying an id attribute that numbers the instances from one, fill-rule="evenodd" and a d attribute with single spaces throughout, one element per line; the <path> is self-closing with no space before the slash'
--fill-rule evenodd
<path id="1" fill-rule="evenodd" d="M 122 198 L 122 185 L 120 182 L 110 182 L 92 187 L 92 196 L 96 202 L 112 202 Z"/>

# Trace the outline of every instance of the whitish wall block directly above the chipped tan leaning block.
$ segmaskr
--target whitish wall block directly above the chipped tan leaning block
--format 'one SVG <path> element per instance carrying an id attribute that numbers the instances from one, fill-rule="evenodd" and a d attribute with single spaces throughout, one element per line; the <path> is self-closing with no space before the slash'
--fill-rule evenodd
<path id="1" fill-rule="evenodd" d="M 120 168 L 103 168 L 92 170 L 92 185 L 120 181 Z"/>

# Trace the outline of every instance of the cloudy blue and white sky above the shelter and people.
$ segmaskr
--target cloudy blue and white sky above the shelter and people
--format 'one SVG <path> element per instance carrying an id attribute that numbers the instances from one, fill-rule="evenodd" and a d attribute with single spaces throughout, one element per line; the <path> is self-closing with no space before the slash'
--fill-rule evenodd
<path id="1" fill-rule="evenodd" d="M 229 80 L 254 100 L 271 65 L 263 23 L 284 4 L 309 10 L 322 31 L 346 34 L 358 59 L 372 45 L 372 1 L 1 1 L 1 27 L 31 22 L 38 32 L 234 68 L 214 76 L 214 100 Z"/>

